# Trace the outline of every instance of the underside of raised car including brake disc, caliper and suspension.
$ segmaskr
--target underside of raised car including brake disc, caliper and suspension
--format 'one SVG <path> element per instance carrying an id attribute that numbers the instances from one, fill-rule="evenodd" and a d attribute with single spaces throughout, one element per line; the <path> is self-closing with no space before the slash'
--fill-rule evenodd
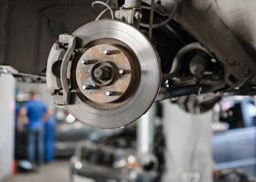
<path id="1" fill-rule="evenodd" d="M 0 73 L 47 82 L 53 103 L 92 127 L 124 127 L 169 98 L 203 112 L 255 95 L 255 5 L 4 0 Z"/>

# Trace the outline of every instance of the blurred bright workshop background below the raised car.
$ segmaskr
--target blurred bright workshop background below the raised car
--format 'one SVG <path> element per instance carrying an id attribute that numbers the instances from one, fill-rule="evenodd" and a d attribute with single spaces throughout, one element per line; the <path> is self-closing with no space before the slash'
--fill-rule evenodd
<path id="1" fill-rule="evenodd" d="M 0 87 L 0 181 L 255 181 L 255 98 L 223 97 L 202 114 L 188 112 L 195 97 L 165 100 L 128 127 L 101 130 L 53 106 L 45 84 L 3 74 Z M 24 108 L 27 119 L 48 114 L 42 148 Z"/>

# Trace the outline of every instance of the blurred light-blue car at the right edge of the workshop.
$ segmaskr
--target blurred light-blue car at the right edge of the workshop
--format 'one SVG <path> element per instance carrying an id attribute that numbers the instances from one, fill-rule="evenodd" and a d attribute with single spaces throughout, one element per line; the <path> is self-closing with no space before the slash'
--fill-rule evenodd
<path id="1" fill-rule="evenodd" d="M 253 98 L 232 97 L 222 100 L 215 115 L 212 140 L 217 170 L 241 168 L 255 176 L 256 107 Z"/>

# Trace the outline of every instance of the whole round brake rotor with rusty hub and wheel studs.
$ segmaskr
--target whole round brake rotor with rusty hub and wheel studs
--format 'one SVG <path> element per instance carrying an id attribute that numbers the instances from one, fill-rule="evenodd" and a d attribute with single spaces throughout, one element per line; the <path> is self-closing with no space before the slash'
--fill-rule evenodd
<path id="1" fill-rule="evenodd" d="M 154 103 L 161 82 L 159 57 L 143 33 L 116 20 L 99 20 L 72 33 L 75 101 L 65 105 L 82 122 L 100 128 L 127 125 Z"/>

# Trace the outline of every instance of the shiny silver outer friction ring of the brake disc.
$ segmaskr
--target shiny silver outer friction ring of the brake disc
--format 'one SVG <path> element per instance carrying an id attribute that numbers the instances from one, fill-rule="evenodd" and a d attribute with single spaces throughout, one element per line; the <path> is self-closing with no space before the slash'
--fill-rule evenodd
<path id="1" fill-rule="evenodd" d="M 117 20 L 98 20 L 80 27 L 73 33 L 86 45 L 96 39 L 112 38 L 123 41 L 137 55 L 140 62 L 140 85 L 124 106 L 113 110 L 99 110 L 83 103 L 78 96 L 67 110 L 92 127 L 116 128 L 134 122 L 154 103 L 161 83 L 159 56 L 143 33 Z"/>

